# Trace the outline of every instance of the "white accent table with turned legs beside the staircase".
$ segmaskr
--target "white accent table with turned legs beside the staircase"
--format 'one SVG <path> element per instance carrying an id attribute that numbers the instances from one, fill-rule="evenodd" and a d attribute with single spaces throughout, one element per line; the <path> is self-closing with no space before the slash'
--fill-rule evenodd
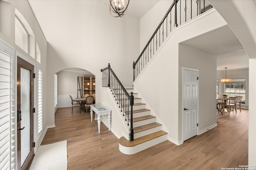
<path id="1" fill-rule="evenodd" d="M 90 105 L 91 122 L 92 122 L 93 111 L 97 114 L 99 133 L 100 133 L 101 115 L 108 115 L 108 131 L 110 131 L 110 129 L 111 129 L 111 110 L 108 107 L 103 106 L 102 104 L 91 104 Z M 95 115 L 95 120 L 96 120 L 96 115 Z"/>

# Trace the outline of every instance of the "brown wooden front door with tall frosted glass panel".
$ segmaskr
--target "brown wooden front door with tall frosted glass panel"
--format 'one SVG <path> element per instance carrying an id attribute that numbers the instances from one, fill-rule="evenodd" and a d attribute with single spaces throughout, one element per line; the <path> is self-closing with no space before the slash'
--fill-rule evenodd
<path id="1" fill-rule="evenodd" d="M 34 66 L 19 57 L 17 60 L 18 170 L 25 170 L 34 155 Z"/>

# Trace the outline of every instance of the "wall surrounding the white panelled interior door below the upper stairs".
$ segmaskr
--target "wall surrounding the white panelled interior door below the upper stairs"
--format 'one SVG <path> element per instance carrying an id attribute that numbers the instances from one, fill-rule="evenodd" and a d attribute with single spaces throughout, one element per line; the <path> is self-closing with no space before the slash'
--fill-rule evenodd
<path id="1" fill-rule="evenodd" d="M 179 45 L 179 140 L 182 140 L 182 67 L 198 70 L 198 133 L 216 125 L 216 66 L 215 56 Z"/>

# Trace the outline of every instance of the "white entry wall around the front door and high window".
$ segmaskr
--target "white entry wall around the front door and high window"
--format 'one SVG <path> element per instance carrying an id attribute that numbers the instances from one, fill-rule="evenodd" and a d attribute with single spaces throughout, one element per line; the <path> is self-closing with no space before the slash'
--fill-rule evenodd
<path id="1" fill-rule="evenodd" d="M 25 53 L 22 49 L 20 49 L 20 47 L 18 47 L 15 44 L 15 8 L 24 16 L 24 18 L 26 19 L 26 21 L 28 22 L 29 26 L 31 27 L 36 42 L 38 43 L 38 46 L 40 48 L 40 53 L 41 53 L 41 63 L 38 63 L 36 61 L 36 59 L 32 58 L 30 55 L 28 55 L 27 53 Z M 53 125 L 51 123 L 49 123 L 48 121 L 48 115 L 47 115 L 47 98 L 48 93 L 47 93 L 47 67 L 46 67 L 46 63 L 47 63 L 47 41 L 44 37 L 44 34 L 42 32 L 42 30 L 40 29 L 40 26 L 38 25 L 36 18 L 28 4 L 27 1 L 20 1 L 20 0 L 8 0 L 8 2 L 6 1 L 0 1 L 0 38 L 2 40 L 4 40 L 6 43 L 8 43 L 9 45 L 11 45 L 12 47 L 14 47 L 14 49 L 16 50 L 16 53 L 19 53 L 23 59 L 25 59 L 26 61 L 28 61 L 29 63 L 33 63 L 35 68 L 36 66 L 41 67 L 41 70 L 43 72 L 43 101 L 42 101 L 42 116 L 43 116 L 43 132 L 46 131 L 46 128 L 48 125 Z M 35 55 L 35 54 L 34 54 Z M 36 86 L 37 83 L 35 82 Z M 36 86 L 34 86 L 34 88 L 36 88 Z M 34 106 L 37 107 L 36 104 L 36 91 L 35 91 L 35 103 Z M 37 110 L 37 109 L 36 109 Z M 35 124 L 36 126 L 37 124 Z M 36 128 L 35 128 L 36 129 Z M 34 133 L 36 134 L 36 133 Z M 36 149 L 38 147 L 38 145 L 40 144 L 40 141 L 42 140 L 42 135 L 40 136 L 39 139 L 37 139 L 36 137 L 37 135 L 35 135 L 34 140 L 36 142 Z"/>

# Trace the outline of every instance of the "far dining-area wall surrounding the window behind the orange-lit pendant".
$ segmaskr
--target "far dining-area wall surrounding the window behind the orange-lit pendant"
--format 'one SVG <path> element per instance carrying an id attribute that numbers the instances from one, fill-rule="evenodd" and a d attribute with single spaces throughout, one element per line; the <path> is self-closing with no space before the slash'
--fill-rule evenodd
<path id="1" fill-rule="evenodd" d="M 217 71 L 217 79 L 222 79 L 225 78 L 225 70 L 218 70 Z M 246 104 L 244 105 L 243 108 L 248 109 L 248 100 L 249 100 L 249 68 L 245 69 L 237 69 L 237 70 L 228 70 L 227 69 L 227 78 L 232 78 L 232 79 L 240 79 L 240 78 L 245 78 L 246 79 L 246 85 L 245 85 L 245 92 L 246 96 L 242 100 L 246 100 Z M 224 83 L 219 83 L 219 89 L 218 89 L 219 95 L 223 95 L 225 90 L 224 90 Z"/>

